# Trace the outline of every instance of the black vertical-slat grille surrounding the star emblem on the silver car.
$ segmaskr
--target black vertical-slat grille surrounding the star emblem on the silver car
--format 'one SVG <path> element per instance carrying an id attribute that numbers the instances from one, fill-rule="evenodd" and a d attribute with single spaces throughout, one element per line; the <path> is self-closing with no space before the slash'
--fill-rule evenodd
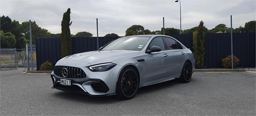
<path id="1" fill-rule="evenodd" d="M 66 77 L 62 74 L 62 69 L 66 68 L 68 74 Z M 63 78 L 86 78 L 85 72 L 81 68 L 71 66 L 54 66 L 53 72 L 56 76 Z"/>

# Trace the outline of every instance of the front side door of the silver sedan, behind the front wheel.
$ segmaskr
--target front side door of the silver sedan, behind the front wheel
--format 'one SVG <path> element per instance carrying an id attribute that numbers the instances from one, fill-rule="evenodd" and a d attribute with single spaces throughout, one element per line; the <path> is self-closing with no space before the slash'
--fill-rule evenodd
<path id="1" fill-rule="evenodd" d="M 165 50 L 162 37 L 152 39 L 147 49 L 151 46 L 159 46 L 161 51 L 146 54 L 148 82 L 170 76 L 170 54 Z"/>

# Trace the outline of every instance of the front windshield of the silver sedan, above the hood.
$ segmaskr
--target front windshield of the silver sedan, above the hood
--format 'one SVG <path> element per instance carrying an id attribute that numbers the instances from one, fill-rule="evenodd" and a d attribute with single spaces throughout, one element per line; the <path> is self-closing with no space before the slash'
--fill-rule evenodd
<path id="1" fill-rule="evenodd" d="M 102 50 L 142 50 L 150 37 L 118 38 L 105 46 Z"/>

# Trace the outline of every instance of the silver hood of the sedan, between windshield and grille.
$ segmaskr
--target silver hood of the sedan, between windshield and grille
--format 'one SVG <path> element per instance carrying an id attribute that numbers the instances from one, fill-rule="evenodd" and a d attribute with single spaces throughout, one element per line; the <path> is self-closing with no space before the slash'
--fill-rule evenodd
<path id="1" fill-rule="evenodd" d="M 92 51 L 92 52 L 83 52 L 74 54 L 62 60 L 74 60 L 74 61 L 81 61 L 81 62 L 88 62 L 91 65 L 112 62 L 114 60 L 135 56 L 139 54 L 140 51 L 134 50 L 99 50 L 99 51 Z"/>

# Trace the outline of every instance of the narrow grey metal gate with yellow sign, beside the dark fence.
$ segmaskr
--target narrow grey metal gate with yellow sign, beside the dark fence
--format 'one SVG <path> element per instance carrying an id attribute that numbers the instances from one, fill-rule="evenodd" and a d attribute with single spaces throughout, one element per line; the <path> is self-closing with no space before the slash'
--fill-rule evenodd
<path id="1" fill-rule="evenodd" d="M 31 55 L 31 45 L 26 44 L 26 67 L 27 70 L 36 70 L 36 45 L 32 45 L 32 55 Z M 33 61 L 31 61 L 31 57 Z"/>

